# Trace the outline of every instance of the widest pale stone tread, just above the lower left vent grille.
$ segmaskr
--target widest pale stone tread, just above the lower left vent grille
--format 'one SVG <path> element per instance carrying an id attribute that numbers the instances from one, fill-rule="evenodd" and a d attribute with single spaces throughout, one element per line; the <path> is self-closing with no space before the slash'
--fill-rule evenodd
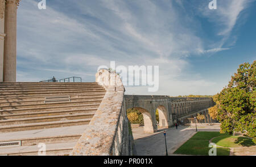
<path id="1" fill-rule="evenodd" d="M 0 134 L 0 144 L 19 142 L 21 146 L 39 143 L 75 142 L 85 131 L 87 125 L 55 127 L 50 129 L 15 131 Z M 18 147 L 19 145 L 16 145 Z M 7 146 L 0 145 L 0 149 Z M 15 147 L 11 146 L 11 147 Z"/>

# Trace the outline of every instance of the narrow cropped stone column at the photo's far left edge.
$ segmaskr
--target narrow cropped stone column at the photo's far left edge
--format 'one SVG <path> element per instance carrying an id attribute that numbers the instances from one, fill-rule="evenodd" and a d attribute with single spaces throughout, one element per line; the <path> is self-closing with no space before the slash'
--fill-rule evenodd
<path id="1" fill-rule="evenodd" d="M 0 0 L 0 82 L 3 82 L 4 46 L 5 46 L 5 0 Z"/>

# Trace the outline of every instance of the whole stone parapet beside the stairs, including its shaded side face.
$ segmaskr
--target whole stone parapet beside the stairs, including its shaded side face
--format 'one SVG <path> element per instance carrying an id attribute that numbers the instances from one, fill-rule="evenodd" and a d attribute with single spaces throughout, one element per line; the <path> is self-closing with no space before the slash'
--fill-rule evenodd
<path id="1" fill-rule="evenodd" d="M 105 97 L 71 155 L 131 155 L 133 136 L 122 81 L 119 75 L 102 69 L 96 74 L 96 82 L 106 89 Z"/>

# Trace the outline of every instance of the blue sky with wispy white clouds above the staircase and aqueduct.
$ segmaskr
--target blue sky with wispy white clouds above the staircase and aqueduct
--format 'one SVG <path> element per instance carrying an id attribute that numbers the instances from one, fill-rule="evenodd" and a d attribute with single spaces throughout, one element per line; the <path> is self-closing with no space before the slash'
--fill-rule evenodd
<path id="1" fill-rule="evenodd" d="M 240 64 L 256 59 L 256 1 L 22 0 L 17 82 L 79 76 L 99 66 L 159 66 L 159 89 L 127 95 L 214 95 Z"/>

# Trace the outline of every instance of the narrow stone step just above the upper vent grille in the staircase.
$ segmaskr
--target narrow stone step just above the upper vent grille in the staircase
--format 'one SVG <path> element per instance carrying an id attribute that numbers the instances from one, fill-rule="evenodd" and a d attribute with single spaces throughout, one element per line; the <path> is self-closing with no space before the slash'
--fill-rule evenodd
<path id="1" fill-rule="evenodd" d="M 98 90 L 98 91 L 76 91 L 77 94 L 81 94 L 81 93 L 105 93 L 105 89 L 103 90 Z M 0 99 L 1 98 L 5 98 L 5 97 L 17 97 L 17 96 L 57 96 L 57 95 L 69 95 L 71 93 L 74 93 L 74 91 L 59 91 L 59 92 L 42 92 L 42 93 L 1 93 L 0 94 Z"/>

